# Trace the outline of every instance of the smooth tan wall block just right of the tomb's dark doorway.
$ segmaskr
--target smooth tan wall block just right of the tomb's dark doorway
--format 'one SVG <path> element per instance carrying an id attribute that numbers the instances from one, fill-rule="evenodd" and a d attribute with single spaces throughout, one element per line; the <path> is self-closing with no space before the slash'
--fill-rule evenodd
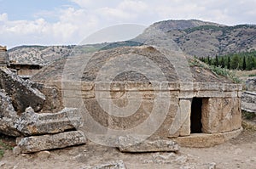
<path id="1" fill-rule="evenodd" d="M 241 99 L 203 99 L 202 132 L 230 132 L 241 128 Z"/>

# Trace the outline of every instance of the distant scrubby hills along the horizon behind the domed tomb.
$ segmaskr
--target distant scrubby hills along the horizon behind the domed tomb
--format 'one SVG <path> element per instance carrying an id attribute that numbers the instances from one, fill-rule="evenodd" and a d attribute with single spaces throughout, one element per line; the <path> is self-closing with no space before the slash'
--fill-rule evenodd
<path id="1" fill-rule="evenodd" d="M 177 43 L 185 54 L 207 57 L 234 54 L 256 49 L 256 25 L 219 25 L 201 20 L 166 20 L 150 25 L 143 33 L 155 29 L 166 33 L 166 37 Z M 133 39 L 137 41 L 137 38 Z M 131 45 L 130 45 L 131 43 Z M 87 46 L 86 51 L 99 48 L 137 46 L 137 42 L 115 42 Z M 55 59 L 68 56 L 74 46 L 21 46 L 9 50 L 10 60 L 16 63 L 48 65 Z"/>

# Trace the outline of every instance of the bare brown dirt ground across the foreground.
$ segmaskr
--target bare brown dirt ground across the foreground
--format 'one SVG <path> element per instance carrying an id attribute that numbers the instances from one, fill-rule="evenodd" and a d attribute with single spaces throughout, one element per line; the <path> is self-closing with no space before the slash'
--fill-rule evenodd
<path id="1" fill-rule="evenodd" d="M 5 140 L 6 141 L 6 140 Z M 9 144 L 12 141 L 9 140 Z M 91 168 L 109 161 L 123 161 L 126 168 L 256 168 L 256 131 L 244 130 L 237 138 L 211 148 L 181 148 L 175 153 L 120 153 L 93 143 L 35 154 L 14 155 L 6 150 L 0 168 Z M 106 167 L 110 168 L 110 167 Z"/>

